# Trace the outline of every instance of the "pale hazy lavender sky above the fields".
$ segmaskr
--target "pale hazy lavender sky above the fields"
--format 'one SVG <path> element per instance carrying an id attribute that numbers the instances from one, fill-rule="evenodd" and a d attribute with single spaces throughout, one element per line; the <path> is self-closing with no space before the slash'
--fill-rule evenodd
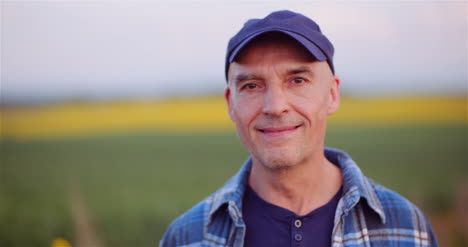
<path id="1" fill-rule="evenodd" d="M 466 1 L 1 1 L 2 102 L 221 94 L 229 39 L 289 9 L 335 46 L 343 94 L 466 95 Z"/>

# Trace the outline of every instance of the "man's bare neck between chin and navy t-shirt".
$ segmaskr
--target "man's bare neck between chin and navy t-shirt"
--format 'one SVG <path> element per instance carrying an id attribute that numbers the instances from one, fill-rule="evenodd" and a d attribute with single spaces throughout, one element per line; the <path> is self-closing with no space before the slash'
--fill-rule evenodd
<path id="1" fill-rule="evenodd" d="M 293 167 L 271 169 L 252 159 L 249 185 L 265 201 L 297 215 L 325 205 L 342 185 L 341 170 L 324 155 Z"/>

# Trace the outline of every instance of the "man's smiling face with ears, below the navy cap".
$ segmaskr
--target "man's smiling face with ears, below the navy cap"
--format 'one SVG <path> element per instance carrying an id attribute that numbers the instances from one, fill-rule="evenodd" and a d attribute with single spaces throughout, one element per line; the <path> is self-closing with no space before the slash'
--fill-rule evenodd
<path id="1" fill-rule="evenodd" d="M 254 162 L 292 167 L 323 155 L 339 79 L 294 41 L 258 41 L 229 67 L 229 116 Z"/>

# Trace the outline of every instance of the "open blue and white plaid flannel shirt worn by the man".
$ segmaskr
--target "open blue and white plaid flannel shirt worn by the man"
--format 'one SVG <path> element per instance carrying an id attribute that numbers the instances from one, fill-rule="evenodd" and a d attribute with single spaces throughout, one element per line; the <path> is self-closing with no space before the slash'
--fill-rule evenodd
<path id="1" fill-rule="evenodd" d="M 343 175 L 343 195 L 331 236 L 333 247 L 437 246 L 429 222 L 416 206 L 365 177 L 346 153 L 325 148 L 325 156 Z M 251 166 L 248 159 L 221 189 L 177 218 L 160 246 L 243 246 L 242 197 Z"/>

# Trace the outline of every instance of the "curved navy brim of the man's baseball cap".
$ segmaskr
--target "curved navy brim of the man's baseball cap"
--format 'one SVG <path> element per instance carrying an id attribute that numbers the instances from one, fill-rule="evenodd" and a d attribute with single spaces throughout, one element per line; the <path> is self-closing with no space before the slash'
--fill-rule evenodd
<path id="1" fill-rule="evenodd" d="M 297 42 L 299 42 L 301 45 L 304 46 L 304 48 L 306 48 L 310 54 L 315 58 L 317 59 L 318 61 L 326 61 L 327 60 L 327 57 L 325 56 L 325 54 L 322 52 L 322 50 L 320 48 L 318 48 L 312 41 L 308 40 L 307 38 L 304 38 L 303 36 L 299 35 L 299 34 L 296 34 L 296 33 L 293 33 L 293 32 L 290 32 L 290 31 L 286 31 L 286 30 L 282 30 L 282 29 L 268 29 L 268 30 L 263 30 L 261 32 L 258 32 L 258 33 L 255 33 L 255 34 L 252 34 L 250 35 L 249 37 L 247 37 L 246 39 L 244 39 L 239 45 L 237 45 L 237 47 L 232 51 L 232 53 L 230 54 L 229 56 L 229 64 L 231 64 L 237 57 L 237 55 L 239 54 L 239 52 L 242 50 L 242 48 L 245 47 L 245 45 L 247 45 L 250 41 L 252 41 L 253 39 L 255 39 L 256 37 L 264 34 L 264 33 L 269 33 L 269 32 L 280 32 L 280 33 L 284 33 L 288 36 L 290 36 L 291 38 L 295 39 Z"/>

